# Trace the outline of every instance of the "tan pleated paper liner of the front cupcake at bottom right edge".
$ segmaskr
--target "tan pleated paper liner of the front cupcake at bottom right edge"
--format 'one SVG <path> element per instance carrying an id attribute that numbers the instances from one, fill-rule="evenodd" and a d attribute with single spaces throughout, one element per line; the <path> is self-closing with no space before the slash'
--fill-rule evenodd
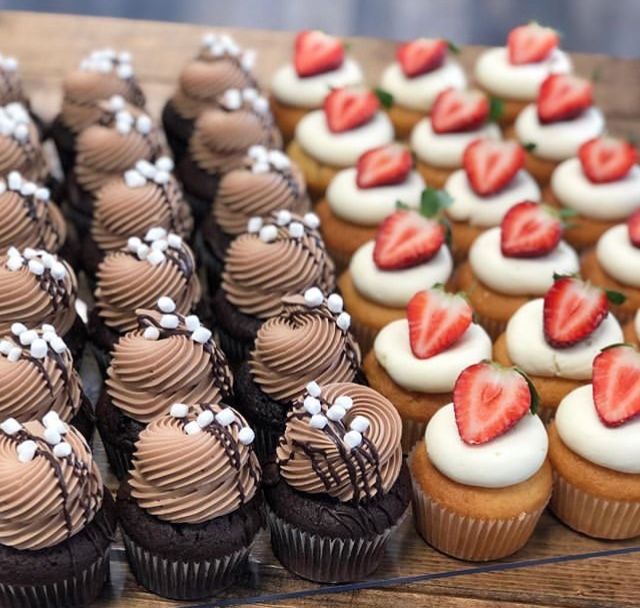
<path id="1" fill-rule="evenodd" d="M 588 536 L 609 540 L 640 536 L 640 502 L 588 494 L 555 470 L 549 506 L 563 523 Z"/>

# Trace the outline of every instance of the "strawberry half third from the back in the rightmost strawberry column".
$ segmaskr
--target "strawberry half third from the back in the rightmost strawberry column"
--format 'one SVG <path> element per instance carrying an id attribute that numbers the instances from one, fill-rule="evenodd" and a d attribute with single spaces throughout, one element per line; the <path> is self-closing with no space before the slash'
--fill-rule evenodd
<path id="1" fill-rule="evenodd" d="M 583 143 L 578 158 L 584 174 L 594 183 L 622 179 L 638 159 L 636 149 L 624 139 L 596 137 Z"/>

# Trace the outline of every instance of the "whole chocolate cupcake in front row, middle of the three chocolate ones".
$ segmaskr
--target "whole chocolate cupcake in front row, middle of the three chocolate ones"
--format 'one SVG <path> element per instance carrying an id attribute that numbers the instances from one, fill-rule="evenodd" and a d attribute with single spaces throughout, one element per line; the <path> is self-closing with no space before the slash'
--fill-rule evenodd
<path id="1" fill-rule="evenodd" d="M 176 404 L 140 433 L 117 509 L 137 581 L 179 600 L 210 597 L 246 567 L 264 526 L 253 431 L 224 405 Z"/>

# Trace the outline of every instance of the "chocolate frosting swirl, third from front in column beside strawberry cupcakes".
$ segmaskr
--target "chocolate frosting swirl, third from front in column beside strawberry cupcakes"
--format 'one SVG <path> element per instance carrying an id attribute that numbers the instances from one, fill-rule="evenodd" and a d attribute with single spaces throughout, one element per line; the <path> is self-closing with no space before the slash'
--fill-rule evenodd
<path id="1" fill-rule="evenodd" d="M 282 311 L 282 296 L 318 287 L 331 293 L 335 267 L 314 213 L 288 211 L 251 218 L 247 232 L 227 249 L 222 289 L 241 312 L 268 319 Z"/>

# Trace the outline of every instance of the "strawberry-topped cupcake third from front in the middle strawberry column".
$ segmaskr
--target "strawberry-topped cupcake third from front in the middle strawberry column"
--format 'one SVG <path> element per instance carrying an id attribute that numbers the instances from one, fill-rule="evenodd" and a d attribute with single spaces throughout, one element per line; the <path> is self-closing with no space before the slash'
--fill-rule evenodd
<path id="1" fill-rule="evenodd" d="M 544 296 L 556 274 L 580 270 L 562 231 L 555 209 L 523 201 L 511 207 L 500 227 L 483 232 L 471 245 L 469 259 L 457 269 L 456 287 L 467 294 L 478 323 L 494 340 L 523 304 Z"/>

